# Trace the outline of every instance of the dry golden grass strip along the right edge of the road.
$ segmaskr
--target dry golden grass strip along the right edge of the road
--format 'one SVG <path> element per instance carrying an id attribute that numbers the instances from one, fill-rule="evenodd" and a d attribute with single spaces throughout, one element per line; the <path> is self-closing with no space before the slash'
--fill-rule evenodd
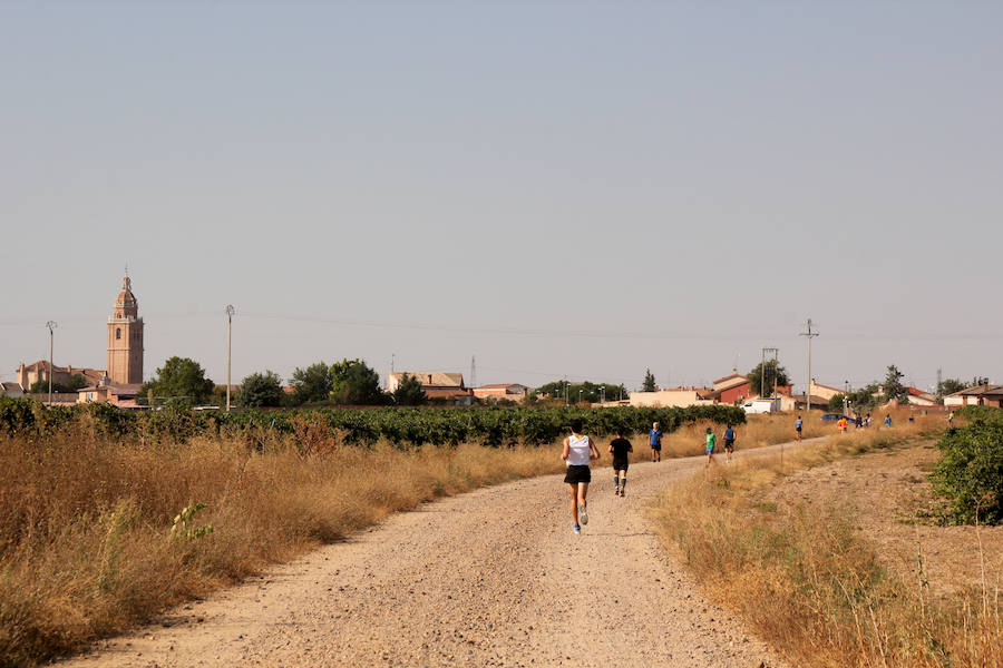
<path id="1" fill-rule="evenodd" d="M 908 582 L 884 567 L 849 508 L 762 502 L 760 492 L 792 466 L 929 436 L 944 420 L 897 424 L 809 445 L 783 468 L 778 458 L 739 461 L 678 485 L 655 509 L 663 539 L 713 599 L 795 664 L 1003 665 L 999 591 L 934 600 L 922 569 Z"/>

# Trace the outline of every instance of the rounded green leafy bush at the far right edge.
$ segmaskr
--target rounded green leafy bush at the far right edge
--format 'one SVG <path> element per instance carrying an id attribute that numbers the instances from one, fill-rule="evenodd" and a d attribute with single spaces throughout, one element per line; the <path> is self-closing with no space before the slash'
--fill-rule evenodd
<path id="1" fill-rule="evenodd" d="M 938 448 L 944 454 L 931 480 L 950 500 L 948 519 L 1003 522 L 1003 420 L 976 419 L 948 430 Z"/>

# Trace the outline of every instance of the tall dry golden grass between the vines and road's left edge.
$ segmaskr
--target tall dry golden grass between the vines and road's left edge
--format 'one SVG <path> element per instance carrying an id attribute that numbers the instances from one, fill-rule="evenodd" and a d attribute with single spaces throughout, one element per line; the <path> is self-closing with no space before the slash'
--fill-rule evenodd
<path id="1" fill-rule="evenodd" d="M 554 448 L 401 452 L 86 430 L 0 440 L 0 666 L 27 666 L 432 498 L 562 470 Z M 205 503 L 172 538 L 175 515 Z"/>

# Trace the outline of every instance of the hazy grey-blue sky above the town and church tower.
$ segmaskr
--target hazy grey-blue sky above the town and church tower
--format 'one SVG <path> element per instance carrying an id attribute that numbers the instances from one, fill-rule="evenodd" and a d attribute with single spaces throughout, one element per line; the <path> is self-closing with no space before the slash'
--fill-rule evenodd
<path id="1" fill-rule="evenodd" d="M 0 4 L 0 379 L 1003 382 L 999 2 Z"/>

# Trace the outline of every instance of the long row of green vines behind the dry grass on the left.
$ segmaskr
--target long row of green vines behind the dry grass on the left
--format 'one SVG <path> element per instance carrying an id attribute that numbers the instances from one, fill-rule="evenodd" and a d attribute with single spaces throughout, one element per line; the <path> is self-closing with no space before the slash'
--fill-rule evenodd
<path id="1" fill-rule="evenodd" d="M 485 409 L 317 409 L 188 411 L 123 411 L 108 404 L 47 407 L 32 399 L 0 396 L 0 433 L 43 436 L 68 425 L 85 424 L 97 432 L 129 439 L 184 441 L 195 435 L 243 435 L 253 444 L 271 434 L 300 434 L 323 430 L 338 441 L 372 445 L 380 440 L 401 448 L 479 443 L 488 446 L 553 443 L 567 433 L 572 420 L 583 421 L 585 433 L 606 436 L 647 433 L 652 422 L 663 432 L 682 424 L 710 420 L 741 424 L 741 409 L 724 405 L 684 409 L 620 406 L 610 409 L 485 407 Z"/>

